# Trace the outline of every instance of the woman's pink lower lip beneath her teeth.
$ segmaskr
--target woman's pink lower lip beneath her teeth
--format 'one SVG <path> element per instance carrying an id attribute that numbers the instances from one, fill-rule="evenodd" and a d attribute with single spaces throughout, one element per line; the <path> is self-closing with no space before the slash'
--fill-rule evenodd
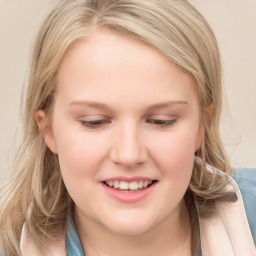
<path id="1" fill-rule="evenodd" d="M 154 190 L 156 183 L 154 182 L 149 187 L 138 191 L 121 191 L 108 187 L 104 183 L 102 183 L 102 186 L 105 192 L 116 200 L 124 203 L 135 203 L 147 197 Z"/>

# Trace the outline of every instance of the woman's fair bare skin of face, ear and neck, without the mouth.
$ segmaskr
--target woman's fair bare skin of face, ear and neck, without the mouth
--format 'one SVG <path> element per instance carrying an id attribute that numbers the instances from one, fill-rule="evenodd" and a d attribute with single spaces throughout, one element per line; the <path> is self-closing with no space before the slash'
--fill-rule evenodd
<path id="1" fill-rule="evenodd" d="M 187 73 L 142 42 L 97 31 L 66 53 L 51 118 L 42 110 L 35 118 L 59 156 L 87 256 L 191 255 L 183 196 L 202 136 Z M 92 120 L 104 121 L 85 125 Z M 157 184 L 124 203 L 102 189 L 115 176 Z"/>

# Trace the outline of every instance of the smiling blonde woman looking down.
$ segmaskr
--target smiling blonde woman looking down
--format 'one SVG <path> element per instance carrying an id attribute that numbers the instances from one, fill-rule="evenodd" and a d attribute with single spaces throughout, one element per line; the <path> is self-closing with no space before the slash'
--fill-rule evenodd
<path id="1" fill-rule="evenodd" d="M 255 255 L 220 111 L 217 43 L 188 1 L 59 2 L 1 188 L 5 253 Z"/>

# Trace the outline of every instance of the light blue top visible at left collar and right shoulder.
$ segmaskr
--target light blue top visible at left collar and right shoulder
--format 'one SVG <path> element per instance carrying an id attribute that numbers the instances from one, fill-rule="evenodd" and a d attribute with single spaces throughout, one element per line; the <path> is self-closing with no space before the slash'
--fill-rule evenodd
<path id="1" fill-rule="evenodd" d="M 241 191 L 247 219 L 256 245 L 256 168 L 236 168 L 233 176 Z M 67 223 L 67 256 L 85 256 L 72 219 Z"/>

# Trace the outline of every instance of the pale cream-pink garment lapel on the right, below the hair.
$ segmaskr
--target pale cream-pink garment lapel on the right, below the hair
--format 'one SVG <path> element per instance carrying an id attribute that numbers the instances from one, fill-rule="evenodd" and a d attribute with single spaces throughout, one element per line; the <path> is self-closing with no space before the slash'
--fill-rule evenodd
<path id="1" fill-rule="evenodd" d="M 235 191 L 237 201 L 218 202 L 213 217 L 199 217 L 203 256 L 256 256 L 240 190 L 230 180 L 227 189 Z"/>

